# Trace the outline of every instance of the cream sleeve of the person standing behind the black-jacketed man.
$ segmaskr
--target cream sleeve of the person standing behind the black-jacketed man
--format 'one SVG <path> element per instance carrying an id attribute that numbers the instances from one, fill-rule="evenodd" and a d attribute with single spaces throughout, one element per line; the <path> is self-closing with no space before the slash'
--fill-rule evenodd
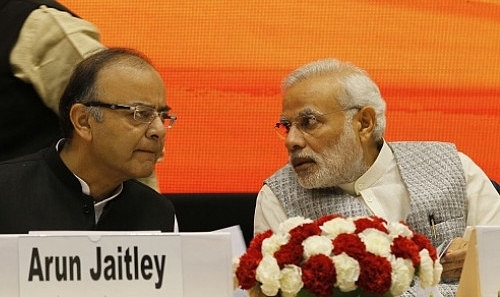
<path id="1" fill-rule="evenodd" d="M 88 21 L 41 6 L 24 22 L 10 54 L 14 75 L 32 84 L 43 102 L 59 113 L 59 98 L 74 66 L 104 48 Z"/>

